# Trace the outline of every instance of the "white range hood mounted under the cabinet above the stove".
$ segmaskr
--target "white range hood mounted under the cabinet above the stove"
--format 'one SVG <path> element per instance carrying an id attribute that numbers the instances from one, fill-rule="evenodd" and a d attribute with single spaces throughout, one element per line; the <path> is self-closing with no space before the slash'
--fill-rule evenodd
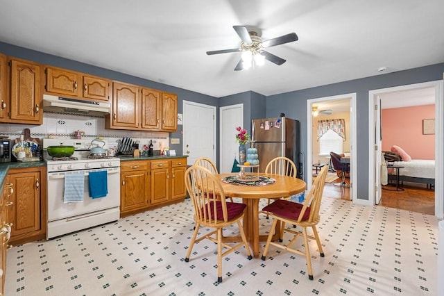
<path id="1" fill-rule="evenodd" d="M 101 101 L 85 101 L 82 99 L 71 99 L 44 94 L 43 110 L 103 116 L 110 114 L 111 104 Z"/>

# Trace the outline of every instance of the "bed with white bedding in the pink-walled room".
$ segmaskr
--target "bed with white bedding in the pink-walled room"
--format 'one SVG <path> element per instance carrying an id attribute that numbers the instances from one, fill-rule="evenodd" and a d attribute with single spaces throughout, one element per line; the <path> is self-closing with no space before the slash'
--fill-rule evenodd
<path id="1" fill-rule="evenodd" d="M 387 164 L 388 180 L 396 180 L 395 170 L 390 165 L 400 165 L 400 181 L 435 185 L 435 161 L 429 159 L 412 159 L 411 161 L 393 161 Z"/>

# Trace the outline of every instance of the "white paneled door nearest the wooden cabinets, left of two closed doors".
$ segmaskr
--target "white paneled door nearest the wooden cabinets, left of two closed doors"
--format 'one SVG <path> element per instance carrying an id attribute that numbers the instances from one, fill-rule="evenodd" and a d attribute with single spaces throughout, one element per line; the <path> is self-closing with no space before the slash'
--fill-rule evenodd
<path id="1" fill-rule="evenodd" d="M 183 155 L 188 165 L 199 157 L 216 163 L 216 107 L 183 101 Z"/>

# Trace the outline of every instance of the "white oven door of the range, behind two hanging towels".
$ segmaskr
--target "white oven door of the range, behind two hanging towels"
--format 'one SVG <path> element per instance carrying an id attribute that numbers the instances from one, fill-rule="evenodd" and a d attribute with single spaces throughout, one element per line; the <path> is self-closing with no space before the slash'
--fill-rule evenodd
<path id="1" fill-rule="evenodd" d="M 120 206 L 120 167 L 109 167 L 108 172 L 108 195 L 101 198 L 92 199 L 89 197 L 89 172 L 103 171 L 82 170 L 85 172 L 85 192 L 83 202 L 64 202 L 65 175 L 76 174 L 79 171 L 49 172 L 47 174 L 47 215 L 48 222 L 94 213 L 108 208 L 119 208 Z"/>

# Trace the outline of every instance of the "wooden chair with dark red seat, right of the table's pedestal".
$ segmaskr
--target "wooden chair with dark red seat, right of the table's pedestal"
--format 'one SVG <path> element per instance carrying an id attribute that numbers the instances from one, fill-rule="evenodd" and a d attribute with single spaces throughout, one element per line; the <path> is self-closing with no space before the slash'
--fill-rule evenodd
<path id="1" fill-rule="evenodd" d="M 321 257 L 324 256 L 324 252 L 321 245 L 321 240 L 319 239 L 318 231 L 316 230 L 316 224 L 318 224 L 321 217 L 319 216 L 319 208 L 321 207 L 321 199 L 323 195 L 324 185 L 325 185 L 325 176 L 327 176 L 328 165 L 322 167 L 321 172 L 316 176 L 316 179 L 311 186 L 311 189 L 305 199 L 304 204 L 299 204 L 297 202 L 290 202 L 284 199 L 278 199 L 277 201 L 265 206 L 262 211 L 268 213 L 271 217 L 273 217 L 273 224 L 271 225 L 270 232 L 268 234 L 268 238 L 266 240 L 266 245 L 264 248 L 264 253 L 262 254 L 262 260 L 265 260 L 266 254 L 268 254 L 268 249 L 270 245 L 278 247 L 280 249 L 287 250 L 294 254 L 299 254 L 305 256 L 307 260 L 307 269 L 308 269 L 308 277 L 309 279 L 313 279 L 313 270 L 311 269 L 311 257 L 310 257 L 310 249 L 308 239 L 316 240 L 318 244 L 318 250 Z M 272 242 L 273 238 L 273 229 L 275 229 L 276 224 L 278 222 L 282 222 L 282 229 L 284 231 L 281 235 L 281 239 L 279 242 L 282 242 L 284 233 L 288 232 L 293 234 L 293 238 L 286 242 Z M 296 231 L 294 229 L 285 228 L 285 224 L 293 224 L 302 229 L 301 231 Z M 307 227 L 311 227 L 313 231 L 313 236 L 307 235 Z M 304 251 L 300 251 L 293 247 L 293 244 L 296 242 L 299 236 L 303 236 Z"/>

